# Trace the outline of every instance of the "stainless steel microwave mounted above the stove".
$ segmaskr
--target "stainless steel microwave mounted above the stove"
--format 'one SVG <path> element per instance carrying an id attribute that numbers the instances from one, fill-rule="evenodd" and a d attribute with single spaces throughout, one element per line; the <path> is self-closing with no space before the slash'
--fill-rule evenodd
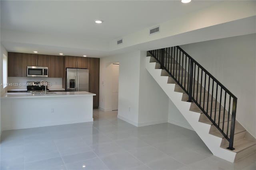
<path id="1" fill-rule="evenodd" d="M 48 67 L 27 66 L 27 77 L 48 77 Z"/>

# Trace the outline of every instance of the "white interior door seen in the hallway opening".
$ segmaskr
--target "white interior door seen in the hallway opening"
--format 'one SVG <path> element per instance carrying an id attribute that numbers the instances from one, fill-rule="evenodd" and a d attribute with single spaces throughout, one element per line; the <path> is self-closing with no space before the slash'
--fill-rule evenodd
<path id="1" fill-rule="evenodd" d="M 119 63 L 112 64 L 112 110 L 118 110 Z"/>

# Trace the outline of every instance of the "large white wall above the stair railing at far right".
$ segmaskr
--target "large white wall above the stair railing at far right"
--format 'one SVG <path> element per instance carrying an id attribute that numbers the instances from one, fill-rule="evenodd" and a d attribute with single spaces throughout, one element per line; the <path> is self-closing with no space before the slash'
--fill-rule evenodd
<path id="1" fill-rule="evenodd" d="M 256 34 L 180 47 L 238 98 L 236 119 L 256 137 Z"/>

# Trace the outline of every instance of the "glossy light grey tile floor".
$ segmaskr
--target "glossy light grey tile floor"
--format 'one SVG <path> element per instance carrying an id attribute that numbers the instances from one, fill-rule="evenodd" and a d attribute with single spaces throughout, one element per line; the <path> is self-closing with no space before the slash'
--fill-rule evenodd
<path id="1" fill-rule="evenodd" d="M 256 170 L 256 153 L 230 163 L 194 131 L 162 123 L 135 127 L 117 111 L 94 122 L 3 131 L 1 170 Z"/>

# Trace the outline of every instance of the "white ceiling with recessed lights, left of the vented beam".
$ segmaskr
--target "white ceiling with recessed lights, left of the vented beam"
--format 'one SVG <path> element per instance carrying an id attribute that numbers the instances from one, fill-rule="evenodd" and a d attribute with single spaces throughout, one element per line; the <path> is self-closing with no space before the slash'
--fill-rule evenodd
<path id="1" fill-rule="evenodd" d="M 1 0 L 1 43 L 7 51 L 102 57 L 108 44 L 146 27 L 212 6 L 219 1 L 4 1 Z M 103 20 L 102 24 L 94 20 Z M 19 39 L 8 39 L 4 34 Z M 11 33 L 13 32 L 13 33 Z M 19 35 L 20 34 L 20 35 Z M 22 34 L 22 35 L 21 35 Z M 48 43 L 40 43 L 40 39 Z M 29 43 L 26 42 L 30 39 Z M 72 39 L 72 41 L 71 41 Z M 75 47 L 69 47 L 68 42 Z M 91 56 L 90 56 L 91 55 Z"/>

